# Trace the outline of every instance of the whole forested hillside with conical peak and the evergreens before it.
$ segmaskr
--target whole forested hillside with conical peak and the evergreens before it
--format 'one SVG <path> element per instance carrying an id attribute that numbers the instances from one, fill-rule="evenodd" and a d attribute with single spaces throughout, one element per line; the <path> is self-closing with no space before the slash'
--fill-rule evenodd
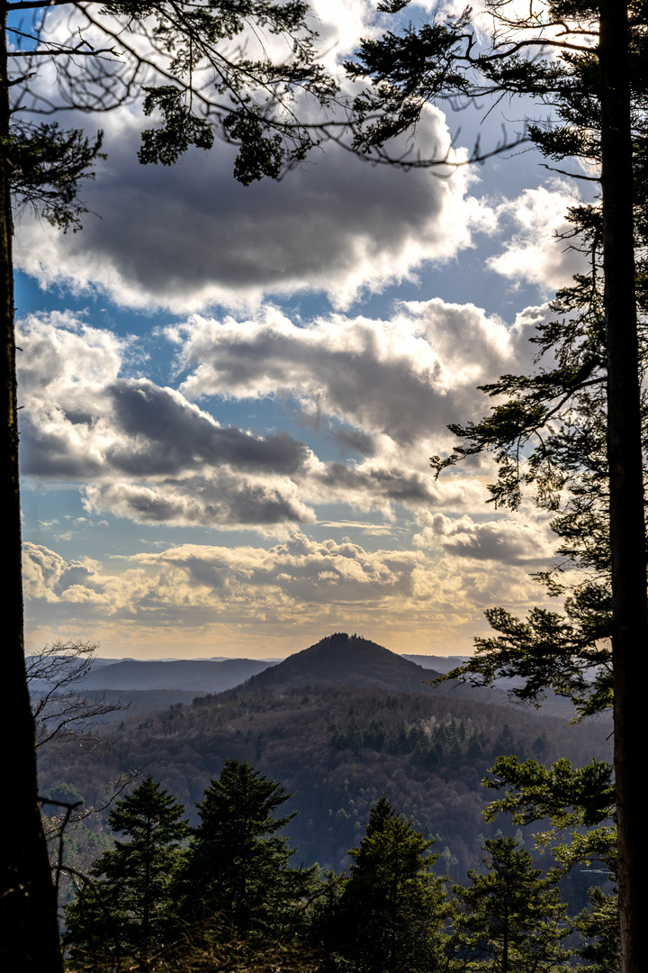
<path id="1" fill-rule="evenodd" d="M 609 830 L 609 720 L 456 684 L 325 684 L 340 649 L 357 682 L 413 665 L 336 633 L 234 690 L 41 747 L 71 970 L 548 973 L 616 955 L 609 836 L 573 851 L 586 824 Z M 562 793 L 558 816 L 519 782 L 526 808 L 489 812 L 516 771 L 536 804 Z M 577 807 L 587 786 L 595 810 Z"/>

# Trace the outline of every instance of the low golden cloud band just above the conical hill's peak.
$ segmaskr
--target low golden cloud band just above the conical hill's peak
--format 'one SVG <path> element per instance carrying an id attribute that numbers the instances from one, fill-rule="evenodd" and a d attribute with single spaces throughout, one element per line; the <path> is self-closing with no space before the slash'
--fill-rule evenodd
<path id="1" fill-rule="evenodd" d="M 25 545 L 25 595 L 33 631 L 53 623 L 84 625 L 123 642 L 163 637 L 192 645 L 226 636 L 234 650 L 256 633 L 279 654 L 303 648 L 329 631 L 370 633 L 395 651 L 444 640 L 470 649 L 482 613 L 503 604 L 521 613 L 537 597 L 519 566 L 423 551 L 367 551 L 358 544 L 309 540 L 301 533 L 272 547 L 184 544 L 123 563 L 67 561 Z M 540 593 L 541 595 L 541 593 Z M 139 633 L 139 634 L 138 634 Z M 35 637 L 35 636 L 34 636 Z M 413 651 L 412 648 L 409 649 Z M 213 654 L 213 648 L 210 654 Z"/>

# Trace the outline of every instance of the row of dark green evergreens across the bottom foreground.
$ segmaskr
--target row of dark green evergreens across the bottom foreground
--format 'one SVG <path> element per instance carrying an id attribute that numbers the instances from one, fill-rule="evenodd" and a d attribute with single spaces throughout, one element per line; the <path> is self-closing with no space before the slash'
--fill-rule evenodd
<path id="1" fill-rule="evenodd" d="M 289 798 L 228 758 L 191 826 L 146 776 L 110 811 L 114 845 L 85 873 L 68 866 L 69 968 L 549 973 L 600 958 L 595 969 L 614 968 L 614 895 L 592 885 L 570 915 L 561 869 L 535 868 L 519 836 L 482 839 L 468 883 L 452 883 L 435 839 L 383 794 L 336 874 L 294 863 L 281 833 L 296 814 L 283 813 Z"/>

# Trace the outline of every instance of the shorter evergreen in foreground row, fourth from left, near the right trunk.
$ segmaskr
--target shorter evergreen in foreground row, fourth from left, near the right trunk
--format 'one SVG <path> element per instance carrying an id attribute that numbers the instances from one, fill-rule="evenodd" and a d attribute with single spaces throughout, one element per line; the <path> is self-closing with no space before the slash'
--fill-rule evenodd
<path id="1" fill-rule="evenodd" d="M 460 901 L 455 960 L 471 973 L 558 973 L 569 968 L 563 950 L 565 907 L 552 879 L 541 879 L 528 851 L 513 838 L 484 844 L 486 874 L 455 886 Z"/>

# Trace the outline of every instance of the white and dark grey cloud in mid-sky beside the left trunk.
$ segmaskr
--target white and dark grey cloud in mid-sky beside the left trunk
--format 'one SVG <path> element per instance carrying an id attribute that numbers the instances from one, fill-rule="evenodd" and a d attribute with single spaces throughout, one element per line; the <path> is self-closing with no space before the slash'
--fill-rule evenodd
<path id="1" fill-rule="evenodd" d="M 85 507 L 142 523 L 308 523 L 288 433 L 222 427 L 172 388 L 119 376 L 132 342 L 69 315 L 20 324 L 21 464 L 86 483 Z"/>

